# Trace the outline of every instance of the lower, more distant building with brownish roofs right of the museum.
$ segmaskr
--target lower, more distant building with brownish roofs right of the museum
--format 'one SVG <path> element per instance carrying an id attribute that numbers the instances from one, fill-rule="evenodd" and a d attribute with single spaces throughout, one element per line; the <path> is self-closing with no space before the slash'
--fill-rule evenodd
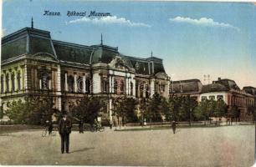
<path id="1" fill-rule="evenodd" d="M 228 110 L 234 106 L 238 107 L 241 121 L 253 119 L 253 116 L 247 112 L 248 107 L 255 103 L 256 89 L 253 87 L 244 87 L 241 90 L 233 80 L 218 78 L 217 81 L 207 85 L 202 85 L 198 79 L 175 81 L 171 82 L 170 88 L 173 88 L 173 95 L 197 97 L 198 102 L 203 99 L 223 99 L 228 105 Z M 172 89 L 170 89 L 170 95 L 171 93 Z"/>

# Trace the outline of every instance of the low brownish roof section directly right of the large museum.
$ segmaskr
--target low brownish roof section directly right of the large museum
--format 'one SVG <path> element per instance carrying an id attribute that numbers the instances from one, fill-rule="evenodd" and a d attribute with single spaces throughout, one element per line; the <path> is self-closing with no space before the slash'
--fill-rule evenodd
<path id="1" fill-rule="evenodd" d="M 172 86 L 173 85 L 173 86 Z M 175 94 L 199 94 L 202 89 L 202 83 L 199 79 L 187 79 L 180 81 L 173 81 L 170 85 L 170 91 L 173 91 Z"/>

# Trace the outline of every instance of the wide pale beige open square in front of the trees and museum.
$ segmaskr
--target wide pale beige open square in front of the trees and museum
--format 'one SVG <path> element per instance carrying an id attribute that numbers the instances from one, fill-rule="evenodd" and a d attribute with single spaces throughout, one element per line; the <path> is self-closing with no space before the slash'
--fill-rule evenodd
<path id="1" fill-rule="evenodd" d="M 40 130 L 0 136 L 0 164 L 252 166 L 254 126 L 72 132 L 70 154 Z"/>

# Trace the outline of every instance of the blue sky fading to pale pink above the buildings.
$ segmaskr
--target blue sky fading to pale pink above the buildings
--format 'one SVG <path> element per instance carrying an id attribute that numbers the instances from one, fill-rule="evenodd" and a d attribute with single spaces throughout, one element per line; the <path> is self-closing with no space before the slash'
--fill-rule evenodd
<path id="1" fill-rule="evenodd" d="M 86 14 L 67 16 L 68 11 Z M 109 16 L 89 17 L 90 11 Z M 102 33 L 104 44 L 125 55 L 148 58 L 152 51 L 173 80 L 211 83 L 220 77 L 235 80 L 240 89 L 256 87 L 255 3 L 8 0 L 3 34 L 30 27 L 31 17 L 34 28 L 56 40 L 100 44 Z"/>

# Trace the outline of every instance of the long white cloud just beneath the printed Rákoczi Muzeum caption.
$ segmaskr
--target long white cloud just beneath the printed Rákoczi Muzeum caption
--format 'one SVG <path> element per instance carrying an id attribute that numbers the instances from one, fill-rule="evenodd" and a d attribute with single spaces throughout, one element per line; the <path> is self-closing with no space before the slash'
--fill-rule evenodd
<path id="1" fill-rule="evenodd" d="M 116 16 L 106 16 L 101 18 L 78 18 L 71 20 L 68 23 L 94 23 L 94 24 L 120 24 L 128 27 L 147 27 L 150 28 L 151 25 L 146 23 L 134 23 L 126 18 L 117 18 Z"/>

